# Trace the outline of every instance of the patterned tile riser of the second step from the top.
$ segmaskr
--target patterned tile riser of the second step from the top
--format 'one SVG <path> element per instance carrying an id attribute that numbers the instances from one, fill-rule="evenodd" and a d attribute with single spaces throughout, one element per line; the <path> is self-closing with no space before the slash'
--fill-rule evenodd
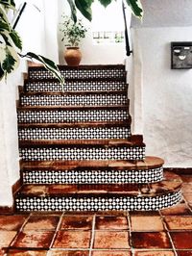
<path id="1" fill-rule="evenodd" d="M 128 85 L 121 81 L 65 81 L 63 89 L 60 83 L 46 81 L 29 81 L 25 84 L 26 91 L 121 91 L 127 90 Z"/>

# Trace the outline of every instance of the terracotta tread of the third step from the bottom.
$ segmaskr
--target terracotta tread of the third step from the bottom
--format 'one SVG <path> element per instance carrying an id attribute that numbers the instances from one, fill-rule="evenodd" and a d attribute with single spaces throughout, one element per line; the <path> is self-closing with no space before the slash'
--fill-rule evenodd
<path id="1" fill-rule="evenodd" d="M 109 139 L 109 140 L 29 140 L 19 141 L 20 146 L 29 145 L 105 145 L 105 146 L 145 146 L 141 135 L 133 135 L 129 139 Z"/>

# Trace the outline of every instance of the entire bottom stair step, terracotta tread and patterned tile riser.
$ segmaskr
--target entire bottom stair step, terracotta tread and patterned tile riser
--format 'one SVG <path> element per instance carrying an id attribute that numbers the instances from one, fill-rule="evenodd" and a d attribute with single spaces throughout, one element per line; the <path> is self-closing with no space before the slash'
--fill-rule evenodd
<path id="1" fill-rule="evenodd" d="M 154 184 L 23 185 L 15 195 L 15 208 L 29 211 L 155 211 L 177 204 L 181 179 L 166 172 Z"/>

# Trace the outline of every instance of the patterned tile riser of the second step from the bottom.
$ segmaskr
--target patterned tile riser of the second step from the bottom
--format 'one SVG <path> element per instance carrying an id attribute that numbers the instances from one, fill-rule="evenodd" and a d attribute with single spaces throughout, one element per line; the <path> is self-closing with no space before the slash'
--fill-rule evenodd
<path id="1" fill-rule="evenodd" d="M 163 168 L 153 169 L 70 169 L 23 170 L 24 184 L 143 184 L 163 179 Z"/>

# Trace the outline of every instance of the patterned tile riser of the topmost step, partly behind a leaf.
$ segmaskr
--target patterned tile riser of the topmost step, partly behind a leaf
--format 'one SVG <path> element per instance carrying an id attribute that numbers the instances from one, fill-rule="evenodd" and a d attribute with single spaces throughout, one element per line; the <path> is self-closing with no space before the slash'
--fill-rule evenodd
<path id="1" fill-rule="evenodd" d="M 101 79 L 101 78 L 122 78 L 125 79 L 126 71 L 122 68 L 70 68 L 65 70 L 60 70 L 61 75 L 65 79 Z M 30 79 L 52 79 L 53 75 L 46 69 L 29 69 Z"/>

